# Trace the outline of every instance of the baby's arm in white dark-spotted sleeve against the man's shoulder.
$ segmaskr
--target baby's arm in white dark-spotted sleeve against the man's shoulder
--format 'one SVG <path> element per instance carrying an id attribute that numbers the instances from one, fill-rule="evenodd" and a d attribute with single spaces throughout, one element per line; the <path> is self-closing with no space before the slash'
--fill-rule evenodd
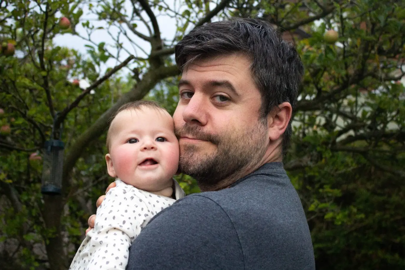
<path id="1" fill-rule="evenodd" d="M 147 207 L 134 193 L 125 192 L 123 187 L 111 189 L 97 209 L 89 270 L 126 268 L 128 249 L 141 231 Z"/>

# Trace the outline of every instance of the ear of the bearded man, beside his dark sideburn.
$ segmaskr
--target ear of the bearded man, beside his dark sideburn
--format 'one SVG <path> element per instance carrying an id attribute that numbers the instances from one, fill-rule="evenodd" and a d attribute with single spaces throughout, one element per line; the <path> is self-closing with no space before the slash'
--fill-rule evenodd
<path id="1" fill-rule="evenodd" d="M 267 115 L 267 125 L 269 128 L 269 139 L 271 141 L 278 140 L 283 136 L 284 131 L 288 127 L 292 115 L 292 107 L 290 102 L 283 102 L 275 107 L 273 111 Z"/>

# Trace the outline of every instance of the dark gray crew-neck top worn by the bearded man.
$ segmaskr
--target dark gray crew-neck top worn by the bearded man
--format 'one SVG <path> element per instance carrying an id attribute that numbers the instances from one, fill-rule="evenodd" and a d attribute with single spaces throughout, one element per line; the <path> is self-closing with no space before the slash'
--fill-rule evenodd
<path id="1" fill-rule="evenodd" d="M 311 235 L 283 164 L 186 196 L 132 243 L 127 269 L 313 270 Z"/>

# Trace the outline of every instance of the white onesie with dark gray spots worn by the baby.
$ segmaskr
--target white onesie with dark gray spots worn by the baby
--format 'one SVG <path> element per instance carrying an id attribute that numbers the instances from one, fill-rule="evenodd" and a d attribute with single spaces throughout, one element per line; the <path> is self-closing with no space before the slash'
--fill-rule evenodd
<path id="1" fill-rule="evenodd" d="M 175 182 L 176 200 L 185 196 Z M 87 233 L 69 270 L 125 269 L 128 249 L 151 218 L 176 200 L 137 189 L 121 180 L 97 208 L 94 228 Z"/>

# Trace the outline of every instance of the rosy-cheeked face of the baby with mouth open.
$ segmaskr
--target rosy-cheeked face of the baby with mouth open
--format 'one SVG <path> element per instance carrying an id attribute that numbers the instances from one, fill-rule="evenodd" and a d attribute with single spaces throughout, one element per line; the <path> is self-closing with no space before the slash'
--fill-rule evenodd
<path id="1" fill-rule="evenodd" d="M 110 176 L 147 191 L 170 187 L 179 165 L 179 142 L 172 117 L 159 108 L 118 113 L 111 123 Z"/>

